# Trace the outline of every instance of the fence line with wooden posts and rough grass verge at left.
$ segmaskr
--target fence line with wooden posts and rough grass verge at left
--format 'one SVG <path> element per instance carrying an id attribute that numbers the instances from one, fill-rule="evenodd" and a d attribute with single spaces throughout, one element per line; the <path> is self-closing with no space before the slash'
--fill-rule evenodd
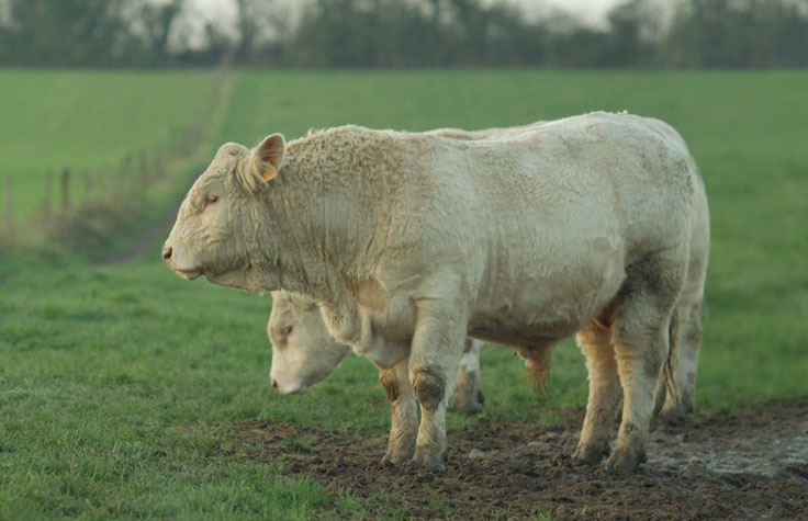
<path id="1" fill-rule="evenodd" d="M 176 127 L 169 138 L 148 150 L 126 154 L 117 165 L 101 169 L 67 165 L 44 171 L 41 192 L 33 199 L 30 183 L 0 172 L 0 203 L 4 203 L 0 257 L 29 246 L 93 256 L 143 233 L 166 203 L 165 196 L 176 197 L 180 184 L 188 181 L 180 177 L 201 160 L 200 152 L 212 137 L 207 131 L 217 127 L 229 106 L 235 78 L 225 67 L 213 71 L 206 124 Z"/>

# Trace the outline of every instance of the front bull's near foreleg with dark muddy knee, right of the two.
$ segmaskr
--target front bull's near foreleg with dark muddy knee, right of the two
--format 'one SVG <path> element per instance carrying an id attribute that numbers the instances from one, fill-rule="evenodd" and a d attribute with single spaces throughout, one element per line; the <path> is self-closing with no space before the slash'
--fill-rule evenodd
<path id="1" fill-rule="evenodd" d="M 446 409 L 467 330 L 461 308 L 442 299 L 422 301 L 409 355 L 409 381 L 420 406 L 412 462 L 434 471 L 445 468 Z"/>

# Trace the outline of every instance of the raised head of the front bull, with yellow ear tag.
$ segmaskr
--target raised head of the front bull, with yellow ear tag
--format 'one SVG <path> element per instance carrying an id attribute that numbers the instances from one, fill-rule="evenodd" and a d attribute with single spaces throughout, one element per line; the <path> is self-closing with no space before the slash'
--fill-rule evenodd
<path id="1" fill-rule="evenodd" d="M 269 268 L 282 246 L 261 240 L 280 239 L 271 219 L 252 218 L 267 212 L 259 195 L 278 175 L 285 141 L 273 134 L 252 150 L 226 143 L 197 179 L 180 206 L 177 222 L 162 249 L 162 260 L 188 280 L 205 275 L 211 282 L 249 291 L 267 285 Z M 262 276 L 261 276 L 261 272 Z"/>

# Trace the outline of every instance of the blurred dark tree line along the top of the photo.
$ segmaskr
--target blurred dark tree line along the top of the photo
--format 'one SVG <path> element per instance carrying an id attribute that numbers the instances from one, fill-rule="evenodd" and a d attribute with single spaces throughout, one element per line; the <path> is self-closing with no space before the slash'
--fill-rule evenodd
<path id="1" fill-rule="evenodd" d="M 0 0 L 0 65 L 48 67 L 659 67 L 808 65 L 808 0 L 626 0 L 603 27 L 508 1 Z"/>

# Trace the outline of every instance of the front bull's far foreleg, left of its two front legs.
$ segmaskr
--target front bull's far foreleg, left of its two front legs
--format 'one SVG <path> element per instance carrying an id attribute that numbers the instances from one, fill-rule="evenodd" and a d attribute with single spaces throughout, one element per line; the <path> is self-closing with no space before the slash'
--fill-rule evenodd
<path id="1" fill-rule="evenodd" d="M 379 381 L 390 400 L 390 441 L 382 463 L 402 465 L 415 453 L 415 438 L 418 433 L 418 412 L 415 393 L 409 384 L 405 358 L 392 367 L 379 367 Z"/>

